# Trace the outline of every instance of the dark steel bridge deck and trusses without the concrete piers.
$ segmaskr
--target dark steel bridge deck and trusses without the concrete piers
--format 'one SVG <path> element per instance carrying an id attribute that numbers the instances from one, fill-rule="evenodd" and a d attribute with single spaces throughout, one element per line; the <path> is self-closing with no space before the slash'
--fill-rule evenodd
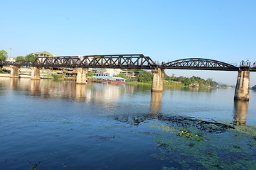
<path id="1" fill-rule="evenodd" d="M 236 64 L 228 64 L 217 60 L 203 58 L 188 58 L 172 62 L 156 64 L 150 57 L 144 55 L 85 55 L 64 57 L 38 57 L 34 62 L 0 61 L 0 66 L 14 65 L 16 67 L 68 67 L 68 68 L 112 68 L 112 69 L 201 69 L 238 71 L 246 69 L 256 72 L 256 67 L 250 62 L 245 62 L 238 67 Z"/>

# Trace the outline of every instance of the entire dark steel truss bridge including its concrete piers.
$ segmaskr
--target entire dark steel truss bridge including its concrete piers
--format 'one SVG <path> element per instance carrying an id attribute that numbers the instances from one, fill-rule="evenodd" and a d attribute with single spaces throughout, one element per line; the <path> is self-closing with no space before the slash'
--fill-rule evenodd
<path id="1" fill-rule="evenodd" d="M 31 79 L 40 79 L 42 67 L 70 67 L 78 69 L 77 83 L 85 84 L 88 68 L 113 69 L 151 69 L 153 74 L 152 91 L 163 90 L 164 69 L 201 69 L 238 71 L 238 81 L 235 89 L 235 99 L 249 100 L 250 72 L 256 72 L 256 67 L 250 67 L 250 62 L 242 62 L 240 67 L 217 60 L 189 58 L 173 62 L 156 64 L 150 57 L 144 55 L 86 55 L 65 57 L 38 57 L 34 62 L 0 61 L 0 66 L 10 65 L 11 77 L 18 77 L 18 68 L 30 66 Z"/>

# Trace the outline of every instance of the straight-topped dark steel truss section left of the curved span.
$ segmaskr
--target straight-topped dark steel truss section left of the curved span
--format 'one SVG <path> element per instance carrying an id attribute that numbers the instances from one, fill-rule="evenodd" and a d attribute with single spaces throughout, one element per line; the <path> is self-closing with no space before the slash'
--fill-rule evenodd
<path id="1" fill-rule="evenodd" d="M 36 67 L 83 67 L 112 69 L 151 69 L 156 64 L 144 55 L 85 55 L 67 57 L 38 57 Z"/>

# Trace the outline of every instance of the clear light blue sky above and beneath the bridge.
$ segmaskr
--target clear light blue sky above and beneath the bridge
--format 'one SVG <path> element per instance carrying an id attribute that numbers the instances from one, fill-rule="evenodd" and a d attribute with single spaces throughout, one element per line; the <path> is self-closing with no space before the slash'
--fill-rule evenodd
<path id="1" fill-rule="evenodd" d="M 252 0 L 1 0 L 0 50 L 11 57 L 144 54 L 159 62 L 200 57 L 256 61 Z M 11 48 L 11 50 L 10 50 Z M 166 70 L 235 84 L 237 72 Z M 250 86 L 256 84 L 251 73 Z"/>

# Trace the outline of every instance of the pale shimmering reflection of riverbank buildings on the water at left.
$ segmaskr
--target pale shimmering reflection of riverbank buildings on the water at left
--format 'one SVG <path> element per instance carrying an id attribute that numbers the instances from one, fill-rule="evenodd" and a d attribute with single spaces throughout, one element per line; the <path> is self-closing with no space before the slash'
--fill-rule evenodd
<path id="1" fill-rule="evenodd" d="M 23 91 L 31 96 L 41 98 L 68 98 L 80 101 L 97 101 L 115 103 L 125 91 L 134 94 L 132 86 L 116 84 L 75 84 L 74 81 L 53 81 L 48 79 L 0 79 L 0 86 Z"/>

